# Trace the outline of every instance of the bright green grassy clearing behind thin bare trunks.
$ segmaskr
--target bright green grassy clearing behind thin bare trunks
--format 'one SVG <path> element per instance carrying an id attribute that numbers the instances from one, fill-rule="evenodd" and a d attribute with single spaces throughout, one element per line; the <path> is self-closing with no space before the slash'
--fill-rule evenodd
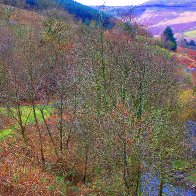
<path id="1" fill-rule="evenodd" d="M 43 122 L 43 118 L 42 118 L 42 114 L 40 109 L 43 110 L 44 113 L 44 117 L 47 119 L 48 117 L 50 117 L 50 115 L 54 112 L 54 107 L 50 107 L 50 106 L 41 106 L 41 105 L 37 105 L 36 106 L 36 115 L 37 115 L 37 120 L 39 123 Z M 21 111 L 21 115 L 22 115 L 22 122 L 24 125 L 28 125 L 28 124 L 34 124 L 35 123 L 35 118 L 34 118 L 34 114 L 33 114 L 33 109 L 31 106 L 21 106 L 20 108 Z M 12 119 L 17 119 L 17 110 L 16 108 L 10 108 L 10 110 L 6 109 L 6 108 L 0 108 L 0 114 Z M 12 131 L 16 130 L 18 127 L 17 122 L 15 125 L 12 125 L 11 127 L 5 129 L 5 130 L 0 130 L 0 141 L 11 137 L 12 136 Z"/>

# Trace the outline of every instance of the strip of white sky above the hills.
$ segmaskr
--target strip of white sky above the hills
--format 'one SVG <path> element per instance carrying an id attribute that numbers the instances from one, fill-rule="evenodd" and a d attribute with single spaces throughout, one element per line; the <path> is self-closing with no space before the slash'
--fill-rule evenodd
<path id="1" fill-rule="evenodd" d="M 124 6 L 124 5 L 138 5 L 148 0 L 76 0 L 84 5 L 105 5 L 110 6 Z"/>

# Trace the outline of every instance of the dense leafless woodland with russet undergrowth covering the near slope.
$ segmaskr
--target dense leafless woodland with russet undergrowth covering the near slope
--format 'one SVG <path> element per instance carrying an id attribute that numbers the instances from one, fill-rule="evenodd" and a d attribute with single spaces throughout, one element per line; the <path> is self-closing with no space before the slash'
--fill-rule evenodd
<path id="1" fill-rule="evenodd" d="M 48 9 L 26 24 L 0 11 L 0 195 L 148 195 L 145 172 L 161 196 L 192 172 L 195 102 L 161 40 L 101 16 Z"/>

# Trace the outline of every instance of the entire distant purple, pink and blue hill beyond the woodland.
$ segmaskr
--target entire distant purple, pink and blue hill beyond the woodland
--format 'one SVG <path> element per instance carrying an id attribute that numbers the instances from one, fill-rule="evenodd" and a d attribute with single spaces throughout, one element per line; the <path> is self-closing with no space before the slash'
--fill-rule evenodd
<path id="1" fill-rule="evenodd" d="M 101 9 L 100 7 L 96 7 Z M 133 15 L 155 36 L 171 26 L 177 37 L 196 40 L 196 0 L 150 0 L 139 6 L 106 7 L 106 12 L 128 20 Z"/>

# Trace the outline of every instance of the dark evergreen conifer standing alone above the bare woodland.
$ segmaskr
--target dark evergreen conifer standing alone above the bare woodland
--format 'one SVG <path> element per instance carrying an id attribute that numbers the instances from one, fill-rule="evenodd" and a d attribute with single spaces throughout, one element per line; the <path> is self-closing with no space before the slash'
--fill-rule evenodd
<path id="1" fill-rule="evenodd" d="M 176 51 L 177 49 L 177 43 L 176 43 L 176 38 L 174 37 L 174 33 L 171 29 L 171 27 L 167 27 L 163 34 L 162 34 L 162 41 L 164 43 L 164 46 L 172 51 Z"/>

